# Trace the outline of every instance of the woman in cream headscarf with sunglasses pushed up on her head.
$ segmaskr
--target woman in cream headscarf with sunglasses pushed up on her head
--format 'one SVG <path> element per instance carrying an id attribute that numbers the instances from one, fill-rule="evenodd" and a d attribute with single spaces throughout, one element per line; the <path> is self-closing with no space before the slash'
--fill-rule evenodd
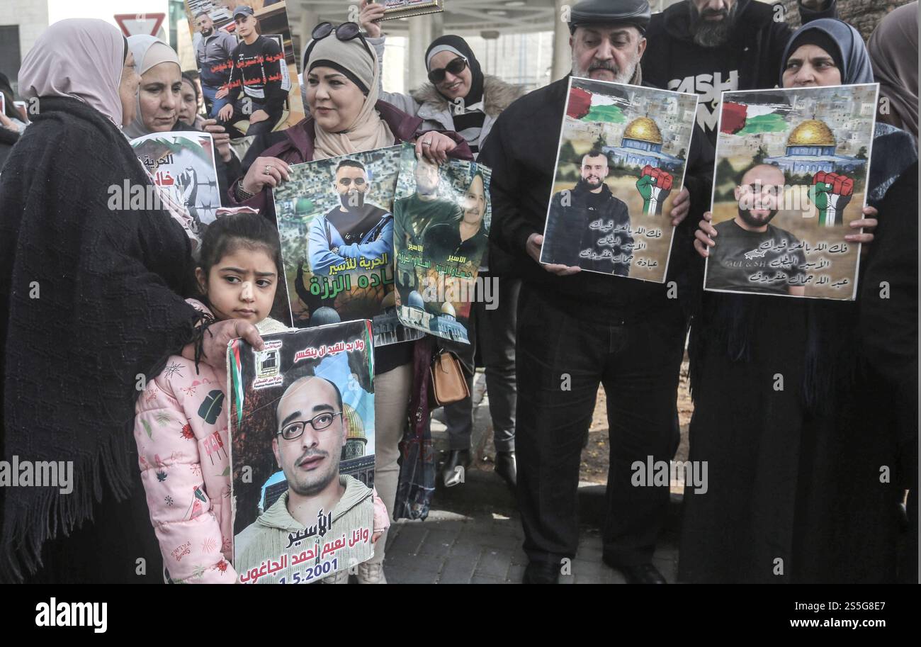
<path id="1" fill-rule="evenodd" d="M 247 206 L 268 210 L 269 189 L 288 179 L 289 164 L 415 142 L 417 154 L 434 163 L 448 158 L 472 159 L 470 147 L 455 133 L 422 129 L 422 119 L 378 100 L 379 68 L 374 51 L 356 23 L 333 29 L 321 23 L 301 60 L 301 88 L 309 116 L 292 128 L 257 137 L 231 197 Z M 259 156 L 259 157 L 256 157 Z M 413 386 L 413 344 L 374 349 L 375 486 L 392 513 L 396 498 L 398 443 Z M 358 581 L 386 583 L 383 575 L 387 537 L 375 544 L 375 555 L 358 565 Z"/>

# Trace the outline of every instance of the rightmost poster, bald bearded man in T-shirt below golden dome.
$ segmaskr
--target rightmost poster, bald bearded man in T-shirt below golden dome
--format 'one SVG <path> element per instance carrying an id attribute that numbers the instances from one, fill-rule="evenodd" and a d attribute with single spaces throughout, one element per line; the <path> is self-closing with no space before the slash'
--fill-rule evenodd
<path id="1" fill-rule="evenodd" d="M 853 300 L 875 83 L 724 92 L 705 289 Z"/>

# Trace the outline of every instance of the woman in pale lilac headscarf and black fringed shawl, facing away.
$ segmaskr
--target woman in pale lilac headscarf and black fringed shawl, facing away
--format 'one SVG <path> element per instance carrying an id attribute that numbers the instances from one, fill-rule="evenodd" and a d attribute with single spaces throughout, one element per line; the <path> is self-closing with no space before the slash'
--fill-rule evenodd
<path id="1" fill-rule="evenodd" d="M 39 110 L 0 174 L 2 445 L 6 460 L 71 468 L 54 485 L 0 488 L 0 581 L 140 582 L 138 558 L 158 580 L 137 385 L 171 354 L 194 357 L 196 338 L 218 367 L 234 336 L 262 346 L 253 325 L 202 325 L 183 299 L 191 241 L 121 131 L 137 86 L 134 54 L 102 20 L 54 23 L 19 71 Z"/>

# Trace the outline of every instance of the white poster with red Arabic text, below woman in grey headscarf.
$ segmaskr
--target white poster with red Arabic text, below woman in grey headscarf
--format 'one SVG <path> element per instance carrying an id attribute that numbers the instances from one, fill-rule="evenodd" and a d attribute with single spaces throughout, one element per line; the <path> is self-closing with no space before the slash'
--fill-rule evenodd
<path id="1" fill-rule="evenodd" d="M 157 186 L 189 209 L 195 233 L 204 234 L 221 206 L 211 135 L 152 133 L 132 139 L 131 146 Z"/>

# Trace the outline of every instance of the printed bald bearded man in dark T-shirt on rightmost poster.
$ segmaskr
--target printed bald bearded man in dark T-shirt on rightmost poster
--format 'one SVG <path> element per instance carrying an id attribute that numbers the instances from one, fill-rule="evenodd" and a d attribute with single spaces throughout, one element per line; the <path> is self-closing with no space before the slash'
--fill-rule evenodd
<path id="1" fill-rule="evenodd" d="M 784 173 L 771 164 L 758 164 L 742 174 L 735 189 L 739 211 L 735 218 L 716 225 L 718 241 L 706 266 L 709 289 L 745 290 L 801 297 L 806 292 L 806 254 L 789 231 L 771 225 L 783 193 Z M 777 276 L 782 280 L 752 280 L 752 276 Z"/>

